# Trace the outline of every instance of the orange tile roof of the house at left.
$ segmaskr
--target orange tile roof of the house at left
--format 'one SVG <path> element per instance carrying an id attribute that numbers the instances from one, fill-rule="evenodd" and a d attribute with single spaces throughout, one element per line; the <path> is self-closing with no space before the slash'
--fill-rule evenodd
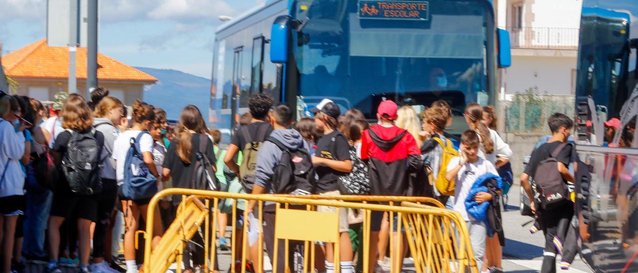
<path id="1" fill-rule="evenodd" d="M 86 79 L 87 48 L 77 48 L 76 77 Z M 6 75 L 13 78 L 65 79 L 69 77 L 68 47 L 49 47 L 47 39 L 36 41 L 2 57 Z M 157 78 L 98 52 L 98 80 L 152 84 Z"/>

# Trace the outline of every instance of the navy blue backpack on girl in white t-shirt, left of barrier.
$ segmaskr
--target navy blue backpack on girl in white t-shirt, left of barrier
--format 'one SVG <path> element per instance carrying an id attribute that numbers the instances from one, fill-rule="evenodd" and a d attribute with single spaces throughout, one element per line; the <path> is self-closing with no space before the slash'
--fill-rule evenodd
<path id="1" fill-rule="evenodd" d="M 131 138 L 131 147 L 126 153 L 122 193 L 128 200 L 151 198 L 158 192 L 157 178 L 149 171 L 140 152 L 140 138 L 148 133 L 142 131 L 137 138 Z"/>

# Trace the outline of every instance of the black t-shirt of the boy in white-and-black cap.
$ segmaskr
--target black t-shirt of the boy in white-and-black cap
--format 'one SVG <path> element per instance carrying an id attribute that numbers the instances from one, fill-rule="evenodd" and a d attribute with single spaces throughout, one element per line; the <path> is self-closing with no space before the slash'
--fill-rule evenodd
<path id="1" fill-rule="evenodd" d="M 323 135 L 316 144 L 315 156 L 333 160 L 350 160 L 350 144 L 348 140 L 339 131 L 334 130 L 328 135 Z M 317 181 L 318 193 L 327 191 L 336 191 L 339 189 L 337 179 L 339 176 L 348 173 L 339 172 L 328 166 L 315 166 L 316 173 L 319 177 Z"/>

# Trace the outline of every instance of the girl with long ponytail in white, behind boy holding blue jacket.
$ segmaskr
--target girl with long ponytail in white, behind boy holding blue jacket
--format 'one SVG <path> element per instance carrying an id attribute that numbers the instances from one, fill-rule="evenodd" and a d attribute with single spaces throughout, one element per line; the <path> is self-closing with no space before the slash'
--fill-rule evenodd
<path id="1" fill-rule="evenodd" d="M 484 108 L 479 103 L 470 103 L 465 107 L 464 116 L 470 128 L 479 135 L 479 156 L 493 163 L 496 168 L 507 164 L 510 161 L 510 156 L 512 156 L 512 150 L 496 131 L 487 128 L 487 125 L 482 122 Z M 498 240 L 498 236 L 487 237 L 485 262 L 481 270 L 485 271 L 487 267 L 501 269 L 502 256 L 503 249 Z"/>

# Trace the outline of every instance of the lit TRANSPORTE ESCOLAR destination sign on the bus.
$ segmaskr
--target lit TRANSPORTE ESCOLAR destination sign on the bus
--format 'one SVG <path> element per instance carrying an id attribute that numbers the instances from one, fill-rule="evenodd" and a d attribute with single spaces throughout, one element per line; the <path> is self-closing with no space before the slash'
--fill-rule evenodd
<path id="1" fill-rule="evenodd" d="M 427 1 L 359 0 L 359 18 L 390 20 L 427 20 Z"/>

